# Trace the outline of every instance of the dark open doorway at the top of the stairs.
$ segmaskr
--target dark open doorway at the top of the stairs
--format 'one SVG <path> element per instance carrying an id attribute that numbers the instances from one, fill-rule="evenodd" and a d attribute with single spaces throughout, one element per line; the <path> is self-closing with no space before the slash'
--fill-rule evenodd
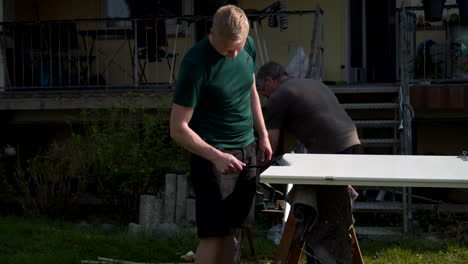
<path id="1" fill-rule="evenodd" d="M 393 83 L 396 81 L 396 0 L 367 0 L 367 81 Z"/>

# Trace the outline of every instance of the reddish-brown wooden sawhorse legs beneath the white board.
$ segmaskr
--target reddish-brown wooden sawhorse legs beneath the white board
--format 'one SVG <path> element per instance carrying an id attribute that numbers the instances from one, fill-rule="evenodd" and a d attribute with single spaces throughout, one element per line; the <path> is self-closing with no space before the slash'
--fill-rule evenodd
<path id="1" fill-rule="evenodd" d="M 304 246 L 304 241 L 299 240 L 295 237 L 296 233 L 296 219 L 292 212 L 289 212 L 288 220 L 284 227 L 283 235 L 281 236 L 281 241 L 276 252 L 275 264 L 297 264 L 301 257 L 302 248 Z M 359 248 L 359 243 L 356 237 L 356 231 L 354 227 L 351 227 L 349 230 L 351 238 L 353 240 L 353 257 L 352 264 L 364 264 L 362 258 L 361 249 Z"/>

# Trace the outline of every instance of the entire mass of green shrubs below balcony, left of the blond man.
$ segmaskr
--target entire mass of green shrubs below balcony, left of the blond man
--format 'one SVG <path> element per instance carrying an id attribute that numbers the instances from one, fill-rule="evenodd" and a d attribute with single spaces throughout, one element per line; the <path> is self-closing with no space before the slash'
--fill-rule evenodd
<path id="1" fill-rule="evenodd" d="M 143 108 L 83 112 L 81 133 L 18 162 L 15 196 L 28 214 L 59 216 L 92 194 L 128 221 L 142 193 L 158 193 L 166 173 L 185 173 L 188 153 L 169 136 L 169 112 Z"/>

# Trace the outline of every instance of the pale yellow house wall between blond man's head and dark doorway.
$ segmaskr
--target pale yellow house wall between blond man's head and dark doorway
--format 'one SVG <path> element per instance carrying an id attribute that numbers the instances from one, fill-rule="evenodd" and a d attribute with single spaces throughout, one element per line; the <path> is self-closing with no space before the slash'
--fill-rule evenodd
<path id="1" fill-rule="evenodd" d="M 241 0 L 240 6 L 244 9 L 261 10 L 276 1 L 272 0 Z M 344 79 L 341 65 L 347 63 L 347 37 L 345 34 L 345 2 L 343 0 L 285 0 L 288 11 L 315 10 L 318 4 L 324 11 L 323 24 L 323 47 L 324 52 L 324 80 L 341 81 Z M 314 24 L 313 14 L 289 16 L 289 28 L 280 32 L 278 28 L 269 28 L 268 19 L 262 21 L 262 32 L 266 39 L 270 60 L 278 61 L 287 66 L 296 54 L 299 46 L 306 52 L 310 52 L 310 40 Z M 255 32 L 251 30 L 255 38 Z M 258 49 L 259 47 L 257 47 Z M 257 52 L 258 55 L 258 52 Z M 257 61 L 261 64 L 260 58 Z"/>

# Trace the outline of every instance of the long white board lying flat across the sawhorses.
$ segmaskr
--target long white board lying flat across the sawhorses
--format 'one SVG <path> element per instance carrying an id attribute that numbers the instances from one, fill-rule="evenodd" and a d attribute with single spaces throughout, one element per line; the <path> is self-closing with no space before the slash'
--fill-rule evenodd
<path id="1" fill-rule="evenodd" d="M 285 154 L 266 183 L 468 188 L 468 159 L 456 156 Z"/>

